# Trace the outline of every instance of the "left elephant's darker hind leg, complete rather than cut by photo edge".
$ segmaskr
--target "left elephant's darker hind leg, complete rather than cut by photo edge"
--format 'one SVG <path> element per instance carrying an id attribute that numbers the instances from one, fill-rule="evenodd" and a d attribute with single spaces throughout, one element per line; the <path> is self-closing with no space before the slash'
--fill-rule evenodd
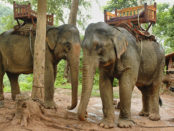
<path id="1" fill-rule="evenodd" d="M 19 84 L 18 84 L 19 75 L 8 72 L 7 76 L 10 80 L 12 99 L 15 100 L 16 95 L 20 94 L 20 89 L 19 89 Z"/>

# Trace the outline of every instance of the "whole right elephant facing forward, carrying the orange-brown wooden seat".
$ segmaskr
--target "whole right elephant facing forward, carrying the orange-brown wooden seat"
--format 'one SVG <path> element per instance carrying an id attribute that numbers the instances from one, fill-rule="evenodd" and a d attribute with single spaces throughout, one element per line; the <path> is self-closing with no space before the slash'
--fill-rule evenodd
<path id="1" fill-rule="evenodd" d="M 120 114 L 118 127 L 133 126 L 131 120 L 131 96 L 135 86 L 142 93 L 140 116 L 159 120 L 159 89 L 164 69 L 164 50 L 150 40 L 137 41 L 135 36 L 122 27 L 104 22 L 92 23 L 85 30 L 83 49 L 82 94 L 77 115 L 85 120 L 86 109 L 93 87 L 96 68 L 99 68 L 99 90 L 102 100 L 103 119 L 99 126 L 113 128 L 113 80 L 119 80 Z"/>

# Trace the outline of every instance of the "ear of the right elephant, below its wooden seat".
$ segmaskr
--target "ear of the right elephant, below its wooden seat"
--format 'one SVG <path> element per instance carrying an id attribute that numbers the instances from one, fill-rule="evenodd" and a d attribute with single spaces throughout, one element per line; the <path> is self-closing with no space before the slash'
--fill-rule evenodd
<path id="1" fill-rule="evenodd" d="M 112 42 L 116 50 L 117 58 L 120 59 L 121 55 L 126 51 L 128 46 L 126 37 L 121 32 L 114 31 Z"/>

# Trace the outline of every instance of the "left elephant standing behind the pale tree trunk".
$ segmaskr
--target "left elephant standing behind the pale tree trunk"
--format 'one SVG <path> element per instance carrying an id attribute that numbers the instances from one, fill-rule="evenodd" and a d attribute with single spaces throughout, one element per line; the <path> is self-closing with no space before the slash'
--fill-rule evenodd
<path id="1" fill-rule="evenodd" d="M 33 72 L 33 52 L 35 34 L 21 35 L 9 30 L 0 35 L 0 101 L 3 101 L 3 76 L 6 73 L 11 84 L 12 99 L 20 94 L 18 76 Z M 57 64 L 65 59 L 70 64 L 72 102 L 68 109 L 77 105 L 78 69 L 80 57 L 80 35 L 78 29 L 70 24 L 58 27 L 47 26 L 45 56 L 45 94 L 44 105 L 54 108 L 54 82 Z"/>

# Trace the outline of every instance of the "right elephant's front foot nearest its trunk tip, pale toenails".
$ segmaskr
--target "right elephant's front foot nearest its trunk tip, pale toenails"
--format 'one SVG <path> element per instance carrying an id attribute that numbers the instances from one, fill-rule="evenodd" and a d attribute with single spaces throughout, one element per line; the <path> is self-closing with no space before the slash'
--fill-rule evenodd
<path id="1" fill-rule="evenodd" d="M 106 119 L 104 118 L 100 123 L 99 123 L 100 127 L 109 129 L 109 128 L 113 128 L 115 126 L 114 123 L 114 119 Z"/>

